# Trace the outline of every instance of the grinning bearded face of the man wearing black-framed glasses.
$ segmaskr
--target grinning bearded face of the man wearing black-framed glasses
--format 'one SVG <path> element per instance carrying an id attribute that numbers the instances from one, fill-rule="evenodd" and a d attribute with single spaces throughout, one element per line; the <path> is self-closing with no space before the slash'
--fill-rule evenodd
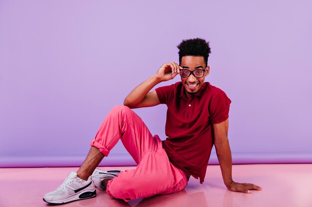
<path id="1" fill-rule="evenodd" d="M 183 56 L 180 66 L 183 69 L 188 69 L 190 71 L 194 71 L 195 69 L 206 69 L 204 57 L 202 56 Z M 205 82 L 205 77 L 208 75 L 208 73 L 209 66 L 207 66 L 207 69 L 204 71 L 202 77 L 195 77 L 194 74 L 191 74 L 188 77 L 181 76 L 181 81 L 183 86 L 185 87 L 185 91 L 188 97 L 197 93 L 199 88 Z"/>

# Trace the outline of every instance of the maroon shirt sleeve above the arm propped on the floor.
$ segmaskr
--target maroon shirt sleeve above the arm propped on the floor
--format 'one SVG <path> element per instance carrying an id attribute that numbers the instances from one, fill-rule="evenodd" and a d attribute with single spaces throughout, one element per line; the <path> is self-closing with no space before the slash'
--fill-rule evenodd
<path id="1" fill-rule="evenodd" d="M 209 107 L 210 121 L 212 124 L 221 123 L 229 118 L 231 100 L 221 91 L 212 99 Z"/>

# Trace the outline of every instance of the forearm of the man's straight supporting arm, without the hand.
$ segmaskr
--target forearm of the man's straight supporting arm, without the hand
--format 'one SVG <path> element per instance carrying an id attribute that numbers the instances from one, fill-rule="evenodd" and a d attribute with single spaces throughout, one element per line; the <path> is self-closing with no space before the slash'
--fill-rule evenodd
<path id="1" fill-rule="evenodd" d="M 232 179 L 232 155 L 228 139 L 221 143 L 214 143 L 220 168 L 222 172 L 223 182 L 227 188 L 233 182 Z"/>

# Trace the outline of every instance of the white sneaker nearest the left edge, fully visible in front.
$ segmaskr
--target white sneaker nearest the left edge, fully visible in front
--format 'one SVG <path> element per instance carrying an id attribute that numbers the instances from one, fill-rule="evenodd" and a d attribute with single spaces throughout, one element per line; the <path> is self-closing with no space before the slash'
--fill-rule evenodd
<path id="1" fill-rule="evenodd" d="M 78 178 L 77 173 L 71 172 L 55 191 L 44 195 L 43 201 L 50 204 L 66 204 L 95 196 L 96 190 L 91 176 L 85 181 Z"/>

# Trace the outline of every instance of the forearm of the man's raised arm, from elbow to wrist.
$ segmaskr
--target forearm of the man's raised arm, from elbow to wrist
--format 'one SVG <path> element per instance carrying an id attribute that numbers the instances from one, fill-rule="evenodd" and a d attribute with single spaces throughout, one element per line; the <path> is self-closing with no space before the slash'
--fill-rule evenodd
<path id="1" fill-rule="evenodd" d="M 124 105 L 135 108 L 146 96 L 146 94 L 159 82 L 156 75 L 152 75 L 146 81 L 135 87 L 124 100 Z"/>

